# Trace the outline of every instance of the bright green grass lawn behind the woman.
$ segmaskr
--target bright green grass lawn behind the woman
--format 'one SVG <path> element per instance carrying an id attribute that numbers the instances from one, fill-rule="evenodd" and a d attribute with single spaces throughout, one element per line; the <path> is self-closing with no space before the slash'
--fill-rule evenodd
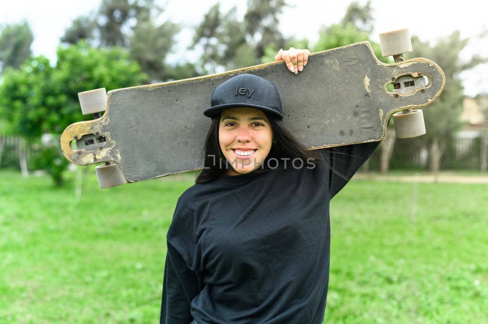
<path id="1" fill-rule="evenodd" d="M 0 171 L 0 323 L 157 323 L 192 178 L 100 190 Z M 331 201 L 326 323 L 488 323 L 488 185 L 351 181 Z"/>

